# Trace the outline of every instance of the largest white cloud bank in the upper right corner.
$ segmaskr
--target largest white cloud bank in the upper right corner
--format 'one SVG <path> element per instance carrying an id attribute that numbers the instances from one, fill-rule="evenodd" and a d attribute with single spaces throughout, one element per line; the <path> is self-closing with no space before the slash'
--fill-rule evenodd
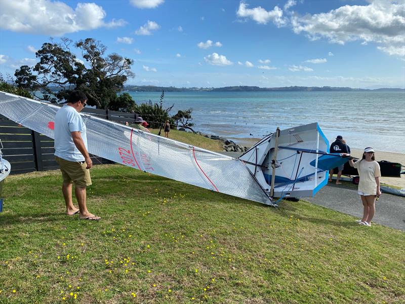
<path id="1" fill-rule="evenodd" d="M 405 2 L 372 1 L 369 5 L 345 5 L 328 13 L 292 17 L 295 33 L 309 39 L 325 37 L 331 43 L 375 43 L 389 55 L 405 56 Z"/>

